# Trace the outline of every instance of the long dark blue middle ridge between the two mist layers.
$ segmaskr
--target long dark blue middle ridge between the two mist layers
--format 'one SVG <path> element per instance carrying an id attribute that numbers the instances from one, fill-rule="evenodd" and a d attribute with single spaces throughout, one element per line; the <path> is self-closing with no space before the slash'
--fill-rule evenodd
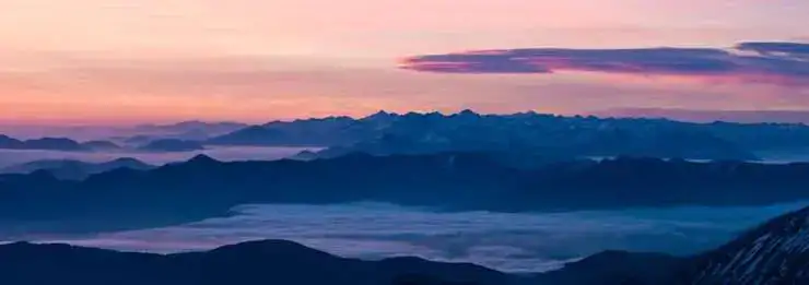
<path id="1" fill-rule="evenodd" d="M 443 153 L 223 163 L 201 155 L 145 171 L 115 169 L 81 181 L 39 171 L 0 176 L 4 195 L 0 231 L 155 226 L 224 215 L 235 205 L 250 203 L 378 201 L 448 211 L 536 212 L 759 205 L 809 198 L 809 164 L 632 157 L 530 161 Z"/>

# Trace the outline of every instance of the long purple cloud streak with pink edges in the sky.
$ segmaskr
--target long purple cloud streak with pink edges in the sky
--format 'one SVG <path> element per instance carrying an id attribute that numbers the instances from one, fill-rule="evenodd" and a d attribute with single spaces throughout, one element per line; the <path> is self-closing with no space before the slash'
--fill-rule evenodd
<path id="1" fill-rule="evenodd" d="M 678 75 L 778 85 L 809 85 L 809 44 L 741 43 L 719 48 L 477 50 L 410 57 L 401 68 L 444 73 L 586 71 Z"/>

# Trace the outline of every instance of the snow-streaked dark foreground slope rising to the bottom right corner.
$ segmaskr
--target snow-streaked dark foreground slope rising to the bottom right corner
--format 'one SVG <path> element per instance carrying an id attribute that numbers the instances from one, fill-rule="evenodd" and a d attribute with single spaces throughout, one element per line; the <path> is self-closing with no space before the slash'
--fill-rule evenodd
<path id="1" fill-rule="evenodd" d="M 809 284 L 809 207 L 775 217 L 705 253 L 608 251 L 538 275 L 552 285 Z"/>

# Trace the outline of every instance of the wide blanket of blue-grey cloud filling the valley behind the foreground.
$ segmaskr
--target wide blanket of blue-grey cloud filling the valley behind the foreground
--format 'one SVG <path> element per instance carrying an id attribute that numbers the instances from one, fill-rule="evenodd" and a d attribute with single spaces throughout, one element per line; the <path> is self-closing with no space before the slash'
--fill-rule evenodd
<path id="1" fill-rule="evenodd" d="M 344 257 L 418 256 L 538 272 L 608 249 L 695 253 L 806 204 L 567 213 L 438 212 L 379 203 L 243 205 L 230 217 L 48 241 L 177 252 L 289 239 Z"/>

